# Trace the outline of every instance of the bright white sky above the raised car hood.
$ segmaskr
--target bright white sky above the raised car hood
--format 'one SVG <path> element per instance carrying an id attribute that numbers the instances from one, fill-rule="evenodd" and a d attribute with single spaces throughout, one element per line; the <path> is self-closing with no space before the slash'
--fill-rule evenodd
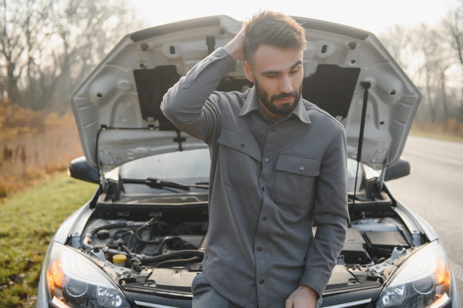
<path id="1" fill-rule="evenodd" d="M 350 25 L 378 35 L 390 25 L 435 25 L 459 0 L 132 0 L 148 26 L 211 15 L 247 20 L 259 8 Z M 162 4 L 160 4 L 162 3 Z"/>

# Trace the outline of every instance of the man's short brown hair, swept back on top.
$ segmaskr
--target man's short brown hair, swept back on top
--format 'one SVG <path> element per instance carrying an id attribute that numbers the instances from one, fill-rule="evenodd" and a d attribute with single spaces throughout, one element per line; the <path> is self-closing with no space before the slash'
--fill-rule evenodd
<path id="1" fill-rule="evenodd" d="M 307 50 L 306 31 L 288 15 L 264 10 L 244 22 L 244 57 L 248 62 L 260 44 Z"/>

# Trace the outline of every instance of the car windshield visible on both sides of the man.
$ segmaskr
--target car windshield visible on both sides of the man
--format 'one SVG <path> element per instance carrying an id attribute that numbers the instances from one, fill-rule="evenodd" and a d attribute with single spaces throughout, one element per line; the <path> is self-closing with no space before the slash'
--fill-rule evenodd
<path id="1" fill-rule="evenodd" d="M 196 149 L 177 151 L 139 158 L 121 166 L 120 177 L 131 179 L 146 179 L 156 177 L 172 179 L 183 183 L 196 183 L 209 181 L 211 158 L 209 149 Z M 355 171 L 357 161 L 347 159 L 347 188 L 354 191 Z M 362 165 L 359 168 L 357 191 L 360 189 L 363 178 Z"/>

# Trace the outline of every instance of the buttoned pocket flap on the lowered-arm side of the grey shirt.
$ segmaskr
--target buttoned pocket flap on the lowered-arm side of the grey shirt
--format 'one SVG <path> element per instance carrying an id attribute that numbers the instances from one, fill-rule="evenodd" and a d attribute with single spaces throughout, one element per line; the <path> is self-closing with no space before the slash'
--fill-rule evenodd
<path id="1" fill-rule="evenodd" d="M 276 170 L 288 171 L 305 176 L 320 174 L 321 158 L 293 153 L 280 153 L 276 161 Z"/>

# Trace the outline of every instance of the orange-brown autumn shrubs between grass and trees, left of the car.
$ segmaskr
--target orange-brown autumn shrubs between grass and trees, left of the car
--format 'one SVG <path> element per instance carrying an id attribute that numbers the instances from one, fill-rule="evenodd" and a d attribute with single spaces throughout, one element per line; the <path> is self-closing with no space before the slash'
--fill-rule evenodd
<path id="1" fill-rule="evenodd" d="M 72 114 L 0 101 L 0 199 L 68 168 L 82 155 Z"/>

